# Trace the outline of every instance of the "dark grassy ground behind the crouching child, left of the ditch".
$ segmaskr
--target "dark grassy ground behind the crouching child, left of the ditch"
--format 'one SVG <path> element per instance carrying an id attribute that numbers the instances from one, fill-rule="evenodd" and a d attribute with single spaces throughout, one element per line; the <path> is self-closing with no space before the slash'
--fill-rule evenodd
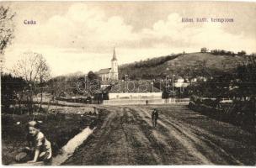
<path id="1" fill-rule="evenodd" d="M 69 109 L 72 110 L 70 107 Z M 42 121 L 40 123 L 41 131 L 51 142 L 53 156 L 57 155 L 61 147 L 67 144 L 76 134 L 80 133 L 88 126 L 95 126 L 99 118 L 87 113 L 67 113 L 65 109 L 60 109 L 59 113 L 49 113 L 47 118 L 45 114 L 38 113 L 35 116 L 12 115 L 2 113 L 2 162 L 3 165 L 16 163 L 14 158 L 19 150 L 26 145 L 25 125 L 28 121 Z M 63 113 L 66 112 L 66 113 Z M 99 113 L 101 111 L 99 110 Z M 17 124 L 19 122 L 19 124 Z"/>

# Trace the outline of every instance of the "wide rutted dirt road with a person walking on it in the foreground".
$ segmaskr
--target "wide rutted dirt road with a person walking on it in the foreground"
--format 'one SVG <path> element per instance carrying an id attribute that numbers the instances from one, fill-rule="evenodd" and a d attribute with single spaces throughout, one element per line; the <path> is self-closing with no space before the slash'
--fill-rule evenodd
<path id="1" fill-rule="evenodd" d="M 64 165 L 255 165 L 252 134 L 184 105 L 101 108 L 104 123 Z"/>

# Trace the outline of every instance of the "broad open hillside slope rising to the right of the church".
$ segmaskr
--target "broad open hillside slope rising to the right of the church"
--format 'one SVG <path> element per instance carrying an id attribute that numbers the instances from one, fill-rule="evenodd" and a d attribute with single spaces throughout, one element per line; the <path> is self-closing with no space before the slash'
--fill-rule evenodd
<path id="1" fill-rule="evenodd" d="M 215 76 L 231 72 L 242 61 L 241 56 L 189 53 L 167 55 L 120 66 L 120 78 L 131 80 L 165 78 L 165 76 Z"/>

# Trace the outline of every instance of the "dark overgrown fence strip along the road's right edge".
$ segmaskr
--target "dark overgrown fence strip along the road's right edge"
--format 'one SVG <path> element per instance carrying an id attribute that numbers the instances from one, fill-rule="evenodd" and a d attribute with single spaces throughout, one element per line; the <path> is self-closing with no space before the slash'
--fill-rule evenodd
<path id="1" fill-rule="evenodd" d="M 241 126 L 242 129 L 256 134 L 256 113 L 253 111 L 255 102 L 232 101 L 227 98 L 222 99 L 221 103 L 209 103 L 209 99 L 202 100 L 195 97 L 189 102 L 189 108 L 216 120 Z"/>

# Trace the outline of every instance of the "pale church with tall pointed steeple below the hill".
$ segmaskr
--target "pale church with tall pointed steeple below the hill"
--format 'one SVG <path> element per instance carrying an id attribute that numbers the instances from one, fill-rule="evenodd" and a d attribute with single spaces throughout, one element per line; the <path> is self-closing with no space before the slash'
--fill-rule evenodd
<path id="1" fill-rule="evenodd" d="M 118 80 L 118 65 L 115 55 L 115 48 L 113 51 L 113 57 L 111 60 L 111 68 L 104 68 L 96 72 L 100 76 L 102 81 Z"/>

